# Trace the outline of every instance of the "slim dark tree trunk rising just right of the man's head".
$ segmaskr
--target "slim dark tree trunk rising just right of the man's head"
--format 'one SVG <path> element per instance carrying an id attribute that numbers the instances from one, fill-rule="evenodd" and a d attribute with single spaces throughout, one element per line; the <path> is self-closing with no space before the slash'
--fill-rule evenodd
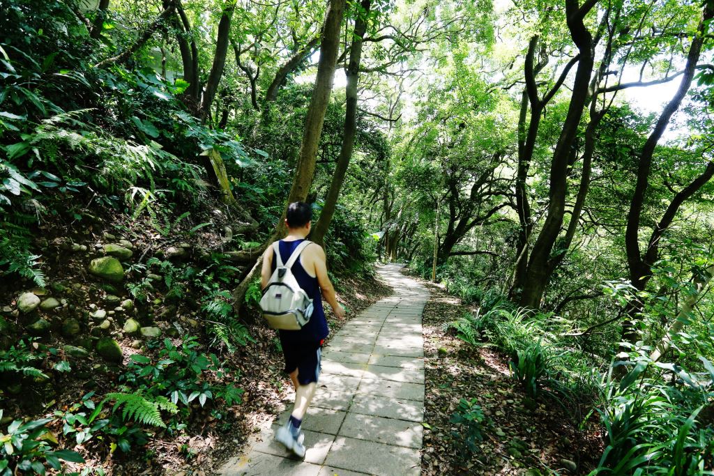
<path id="1" fill-rule="evenodd" d="M 367 31 L 367 17 L 369 15 L 370 4 L 371 0 L 362 0 L 362 11 L 355 20 L 355 29 L 350 46 L 350 59 L 345 71 L 347 87 L 345 92 L 346 111 L 342 148 L 340 149 L 340 156 L 337 159 L 337 166 L 332 176 L 330 189 L 327 192 L 325 206 L 323 206 L 320 219 L 311 233 L 311 239 L 319 245 L 324 244 L 325 235 L 332 221 L 332 217 L 335 214 L 340 190 L 352 158 L 357 133 L 357 85 L 359 81 L 359 65 L 362 56 L 362 40 Z"/>

